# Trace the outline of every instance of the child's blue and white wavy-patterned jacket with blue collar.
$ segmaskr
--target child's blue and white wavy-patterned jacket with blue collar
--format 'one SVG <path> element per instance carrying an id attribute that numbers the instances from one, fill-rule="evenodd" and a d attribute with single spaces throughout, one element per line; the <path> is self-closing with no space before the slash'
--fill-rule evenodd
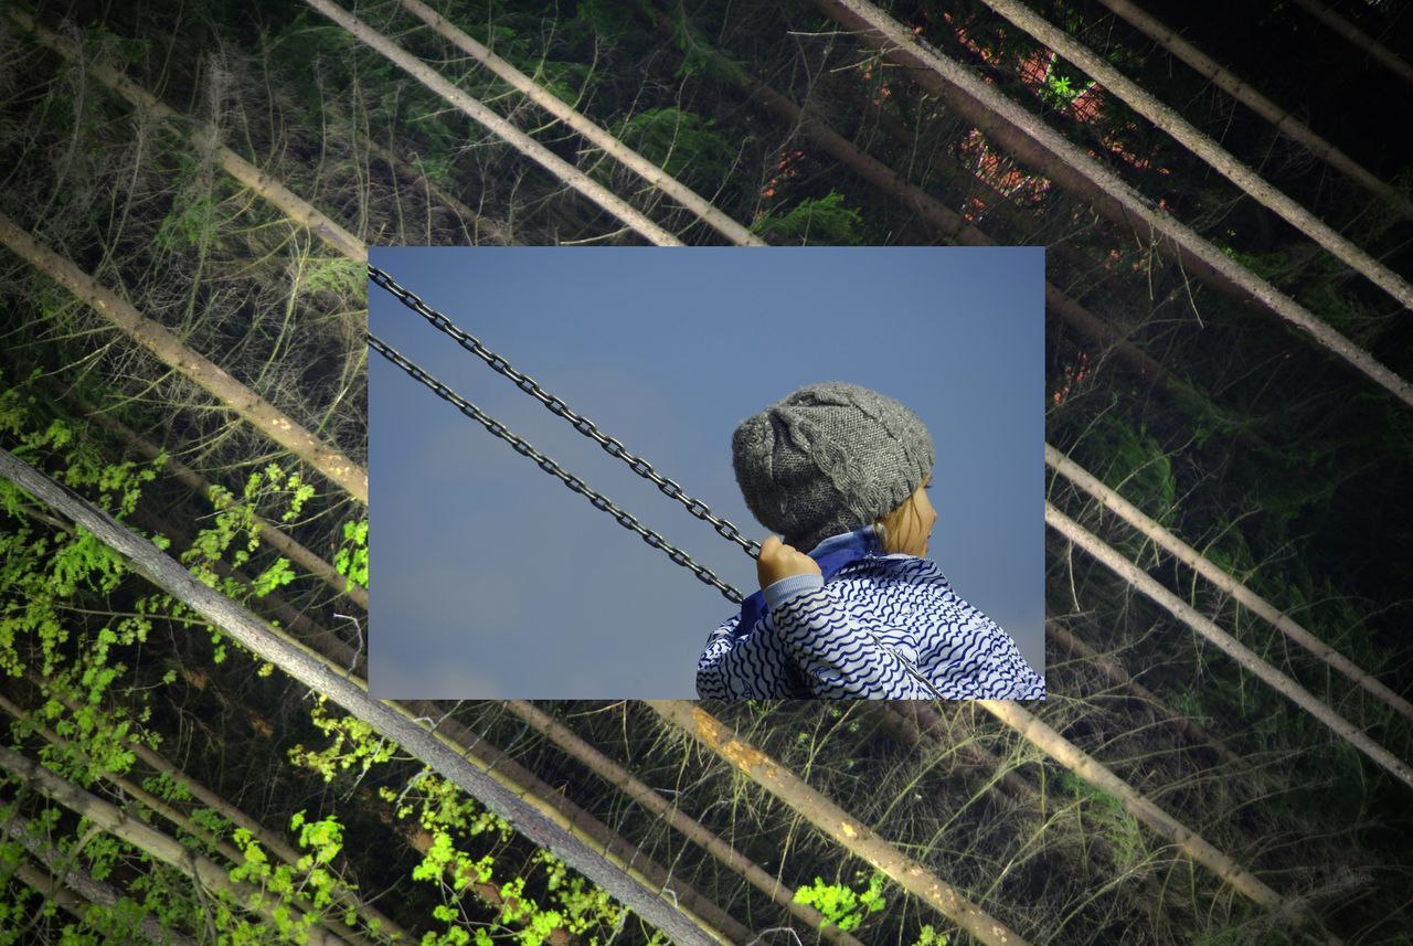
<path id="1" fill-rule="evenodd" d="M 848 545 L 862 558 L 841 556 Z M 1044 678 L 1010 635 L 958 597 L 934 562 L 885 553 L 873 527 L 810 555 L 831 552 L 851 561 L 828 582 L 776 582 L 752 627 L 733 614 L 712 633 L 697 662 L 702 699 L 935 699 L 907 665 L 947 699 L 1044 697 Z"/>

